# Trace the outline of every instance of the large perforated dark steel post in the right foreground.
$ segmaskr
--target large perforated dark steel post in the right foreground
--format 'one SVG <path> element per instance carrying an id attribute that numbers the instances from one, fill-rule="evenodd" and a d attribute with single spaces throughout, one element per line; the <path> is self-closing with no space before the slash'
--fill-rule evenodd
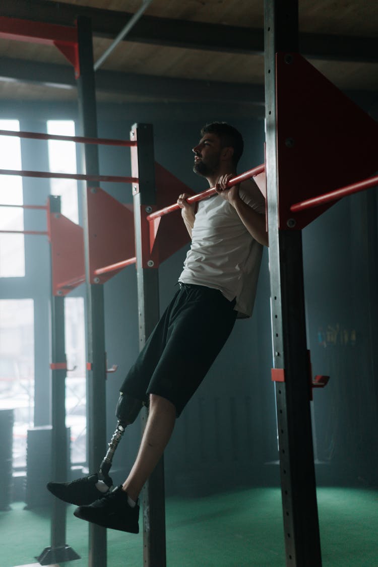
<path id="1" fill-rule="evenodd" d="M 286 565 L 320 567 L 301 232 L 279 229 L 275 53 L 298 52 L 298 0 L 265 0 L 266 180 Z M 305 127 L 305 125 L 304 125 Z M 286 230 L 283 230 L 286 229 Z"/>

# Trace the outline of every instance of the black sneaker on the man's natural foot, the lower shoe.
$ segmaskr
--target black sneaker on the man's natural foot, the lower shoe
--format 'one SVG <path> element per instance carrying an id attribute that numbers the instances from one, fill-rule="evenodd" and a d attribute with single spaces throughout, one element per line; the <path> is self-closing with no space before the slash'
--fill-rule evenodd
<path id="1" fill-rule="evenodd" d="M 79 506 L 74 515 L 77 518 L 92 522 L 98 526 L 112 530 L 127 531 L 131 534 L 139 533 L 139 506 L 134 508 L 128 503 L 128 495 L 122 486 L 117 486 L 103 498 L 96 500 L 90 506 Z"/>

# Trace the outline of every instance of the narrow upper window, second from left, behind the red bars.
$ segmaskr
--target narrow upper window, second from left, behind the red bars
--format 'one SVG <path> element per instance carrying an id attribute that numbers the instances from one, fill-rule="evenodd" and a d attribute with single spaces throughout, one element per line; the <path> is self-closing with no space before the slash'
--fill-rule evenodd
<path id="1" fill-rule="evenodd" d="M 58 136 L 75 136 L 73 120 L 48 120 L 47 131 Z M 76 173 L 76 148 L 74 142 L 49 140 L 50 171 L 54 173 Z M 71 221 L 79 222 L 78 184 L 74 179 L 50 179 L 52 195 L 61 196 L 62 214 Z"/>

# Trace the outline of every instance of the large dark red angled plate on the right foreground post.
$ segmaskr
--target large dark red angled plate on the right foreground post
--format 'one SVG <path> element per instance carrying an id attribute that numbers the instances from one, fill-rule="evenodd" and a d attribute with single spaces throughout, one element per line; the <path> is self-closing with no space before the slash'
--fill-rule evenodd
<path id="1" fill-rule="evenodd" d="M 290 206 L 373 175 L 378 123 L 299 53 L 277 54 L 280 229 L 303 229 L 328 205 Z"/>

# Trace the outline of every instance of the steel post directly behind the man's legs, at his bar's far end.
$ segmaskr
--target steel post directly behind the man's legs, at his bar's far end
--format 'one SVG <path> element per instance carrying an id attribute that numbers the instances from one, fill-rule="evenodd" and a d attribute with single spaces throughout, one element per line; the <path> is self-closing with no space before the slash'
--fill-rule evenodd
<path id="1" fill-rule="evenodd" d="M 133 184 L 135 247 L 137 255 L 139 348 L 159 320 L 158 259 L 150 253 L 150 227 L 147 215 L 156 203 L 154 137 L 152 126 L 134 124 L 130 137 L 138 142 L 131 148 L 131 175 L 139 178 Z M 142 413 L 142 429 L 147 410 Z M 164 567 L 165 552 L 165 495 L 164 460 L 160 459 L 142 493 L 143 505 L 143 565 Z"/>

